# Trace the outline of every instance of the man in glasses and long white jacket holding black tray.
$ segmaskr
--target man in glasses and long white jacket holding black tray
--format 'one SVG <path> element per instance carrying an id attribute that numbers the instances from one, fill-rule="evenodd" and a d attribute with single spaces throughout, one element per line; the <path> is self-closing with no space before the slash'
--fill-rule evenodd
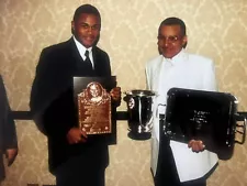
<path id="1" fill-rule="evenodd" d="M 178 18 L 160 23 L 157 44 L 160 55 L 146 65 L 147 87 L 158 92 L 151 138 L 155 185 L 205 186 L 206 174 L 217 164 L 217 155 L 195 140 L 189 144 L 167 140 L 159 154 L 159 114 L 165 113 L 166 107 L 158 105 L 166 105 L 167 91 L 172 87 L 216 91 L 214 63 L 184 51 L 186 24 Z"/>

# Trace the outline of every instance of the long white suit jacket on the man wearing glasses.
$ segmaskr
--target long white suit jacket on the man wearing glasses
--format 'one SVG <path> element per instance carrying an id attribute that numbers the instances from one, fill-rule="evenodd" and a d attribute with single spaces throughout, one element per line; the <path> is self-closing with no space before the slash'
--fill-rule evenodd
<path id="1" fill-rule="evenodd" d="M 170 88 L 187 88 L 198 90 L 216 90 L 214 63 L 183 50 L 172 59 L 162 55 L 146 64 L 147 88 L 158 92 L 155 100 L 154 128 L 151 136 L 151 169 L 156 174 L 159 149 L 159 113 L 165 113 L 167 91 Z M 197 179 L 204 176 L 216 163 L 215 153 L 203 151 L 194 153 L 188 144 L 170 141 L 180 182 Z M 166 157 L 164 157 L 166 158 Z"/>

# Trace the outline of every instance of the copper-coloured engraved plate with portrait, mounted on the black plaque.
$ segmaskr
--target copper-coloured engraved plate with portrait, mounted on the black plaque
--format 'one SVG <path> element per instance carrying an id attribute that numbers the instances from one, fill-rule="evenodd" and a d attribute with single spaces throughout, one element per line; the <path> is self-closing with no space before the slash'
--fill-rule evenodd
<path id="1" fill-rule="evenodd" d="M 111 96 L 101 84 L 89 83 L 77 97 L 81 130 L 87 134 L 111 133 Z"/>

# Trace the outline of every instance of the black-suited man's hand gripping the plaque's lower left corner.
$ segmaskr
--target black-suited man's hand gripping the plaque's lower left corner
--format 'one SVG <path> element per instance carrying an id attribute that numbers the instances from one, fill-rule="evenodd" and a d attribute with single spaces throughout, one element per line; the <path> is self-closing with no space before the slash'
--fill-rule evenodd
<path id="1" fill-rule="evenodd" d="M 85 143 L 87 138 L 86 132 L 79 128 L 71 128 L 67 133 L 67 141 L 69 144 Z"/>

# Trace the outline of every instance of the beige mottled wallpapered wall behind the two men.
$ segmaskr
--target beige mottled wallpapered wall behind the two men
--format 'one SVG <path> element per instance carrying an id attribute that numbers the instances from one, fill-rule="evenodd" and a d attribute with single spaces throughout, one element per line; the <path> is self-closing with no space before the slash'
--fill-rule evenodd
<path id="1" fill-rule="evenodd" d="M 245 0 L 2 0 L 0 1 L 0 73 L 13 110 L 29 110 L 32 80 L 43 47 L 70 37 L 74 11 L 92 3 L 101 12 L 99 46 L 106 51 L 122 90 L 145 88 L 145 63 L 156 56 L 157 29 L 167 17 L 188 26 L 188 51 L 215 61 L 221 91 L 234 94 L 247 110 L 247 6 Z M 126 110 L 125 102 L 119 110 Z M 46 139 L 32 121 L 16 121 L 20 154 L 3 186 L 54 184 L 47 172 Z M 117 145 L 111 146 L 106 186 L 150 186 L 149 141 L 127 138 L 117 122 Z M 247 184 L 247 145 L 220 162 L 210 186 Z M 188 167 L 189 168 L 189 167 Z M 242 177 L 240 177 L 242 176 Z"/>

